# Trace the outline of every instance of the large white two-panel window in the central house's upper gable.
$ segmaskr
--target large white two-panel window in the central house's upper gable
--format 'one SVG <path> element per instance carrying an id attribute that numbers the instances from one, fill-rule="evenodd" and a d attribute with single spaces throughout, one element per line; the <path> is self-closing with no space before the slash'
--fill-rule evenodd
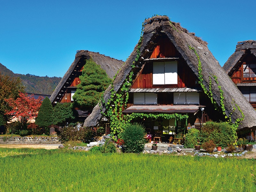
<path id="1" fill-rule="evenodd" d="M 178 84 L 177 61 L 153 62 L 153 85 Z"/>

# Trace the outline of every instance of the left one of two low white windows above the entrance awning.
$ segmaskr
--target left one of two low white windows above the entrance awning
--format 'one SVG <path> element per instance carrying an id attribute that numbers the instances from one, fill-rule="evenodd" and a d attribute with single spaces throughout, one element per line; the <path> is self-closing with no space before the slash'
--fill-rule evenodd
<path id="1" fill-rule="evenodd" d="M 156 93 L 133 93 L 133 104 L 157 104 Z"/>

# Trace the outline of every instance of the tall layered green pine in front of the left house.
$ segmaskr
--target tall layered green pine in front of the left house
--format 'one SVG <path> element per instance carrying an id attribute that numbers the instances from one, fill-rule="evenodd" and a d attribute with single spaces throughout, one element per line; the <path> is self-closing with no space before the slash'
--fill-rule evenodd
<path id="1" fill-rule="evenodd" d="M 111 79 L 92 59 L 86 60 L 79 78 L 81 82 L 73 96 L 74 106 L 80 109 L 93 109 L 111 83 Z"/>

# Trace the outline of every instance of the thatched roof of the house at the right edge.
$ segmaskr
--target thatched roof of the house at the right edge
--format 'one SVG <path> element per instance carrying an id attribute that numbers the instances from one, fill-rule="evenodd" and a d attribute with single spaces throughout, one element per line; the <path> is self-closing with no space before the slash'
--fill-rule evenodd
<path id="1" fill-rule="evenodd" d="M 226 73 L 231 72 L 232 68 L 239 65 L 239 61 L 243 60 L 244 56 L 250 53 L 256 56 L 256 41 L 247 40 L 237 42 L 236 51 L 228 58 L 227 62 L 222 68 L 226 71 Z"/>

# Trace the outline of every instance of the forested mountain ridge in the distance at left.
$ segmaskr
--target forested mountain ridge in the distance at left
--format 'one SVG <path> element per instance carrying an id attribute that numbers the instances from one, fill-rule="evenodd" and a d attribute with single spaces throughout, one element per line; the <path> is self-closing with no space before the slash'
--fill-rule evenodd
<path id="1" fill-rule="evenodd" d="M 59 84 L 61 77 L 41 77 L 35 75 L 22 75 L 13 73 L 0 63 L 0 73 L 10 77 L 19 77 L 25 86 L 25 92 L 51 95 L 55 87 Z"/>

